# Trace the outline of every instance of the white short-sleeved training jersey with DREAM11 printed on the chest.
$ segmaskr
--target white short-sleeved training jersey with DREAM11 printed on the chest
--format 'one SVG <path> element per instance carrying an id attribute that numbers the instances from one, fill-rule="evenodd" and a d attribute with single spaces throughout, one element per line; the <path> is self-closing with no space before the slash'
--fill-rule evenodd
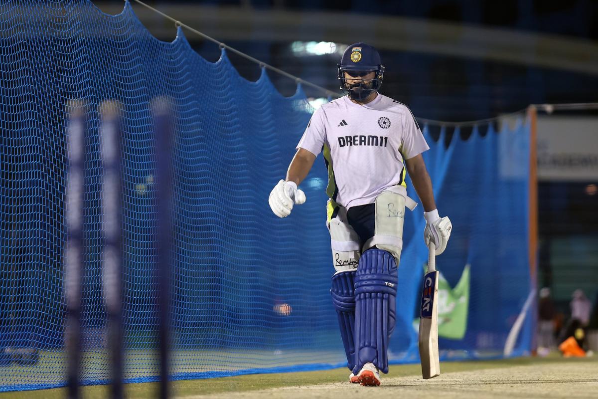
<path id="1" fill-rule="evenodd" d="M 429 150 L 409 108 L 380 93 L 365 105 L 347 96 L 322 105 L 298 148 L 324 151 L 326 193 L 347 209 L 374 203 L 387 189 L 405 195 L 403 159 Z"/>

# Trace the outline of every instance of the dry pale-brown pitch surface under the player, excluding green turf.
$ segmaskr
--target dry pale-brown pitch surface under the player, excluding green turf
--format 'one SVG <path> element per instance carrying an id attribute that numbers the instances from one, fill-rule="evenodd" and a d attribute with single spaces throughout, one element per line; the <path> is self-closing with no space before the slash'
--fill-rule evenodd
<path id="1" fill-rule="evenodd" d="M 193 395 L 186 398 L 350 399 L 350 398 L 598 398 L 598 361 L 545 363 L 444 373 L 431 380 L 421 376 L 386 378 L 382 386 L 350 383 L 289 386 L 249 392 Z"/>

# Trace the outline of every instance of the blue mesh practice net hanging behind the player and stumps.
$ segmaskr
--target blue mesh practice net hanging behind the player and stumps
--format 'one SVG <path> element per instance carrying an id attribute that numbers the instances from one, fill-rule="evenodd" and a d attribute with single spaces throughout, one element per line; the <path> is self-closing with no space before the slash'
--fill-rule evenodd
<path id="1" fill-rule="evenodd" d="M 210 63 L 182 31 L 161 42 L 127 2 L 108 16 L 89 1 L 0 6 L 0 391 L 65 385 L 68 103 L 87 105 L 83 382 L 106 383 L 99 106 L 123 121 L 124 334 L 127 382 L 157 379 L 155 145 L 151 104 L 173 104 L 173 379 L 343 366 L 329 294 L 327 174 L 318 160 L 291 217 L 270 211 L 313 109 L 263 73 Z M 425 154 L 441 213 L 453 221 L 439 294 L 443 360 L 530 350 L 527 260 L 529 124 L 463 140 L 440 132 Z M 484 133 L 484 134 L 482 134 Z M 416 197 L 411 190 L 410 195 Z M 417 309 L 427 251 L 421 208 L 407 212 L 390 360 L 419 360 Z M 515 326 L 515 328 L 513 328 Z M 508 346 L 508 345 L 507 345 Z"/>

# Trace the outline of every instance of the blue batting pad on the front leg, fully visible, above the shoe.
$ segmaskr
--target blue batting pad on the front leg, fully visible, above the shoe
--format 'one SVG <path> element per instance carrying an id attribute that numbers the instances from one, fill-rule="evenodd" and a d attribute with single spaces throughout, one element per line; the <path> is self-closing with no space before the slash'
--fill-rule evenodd
<path id="1" fill-rule="evenodd" d="M 395 258 L 382 249 L 369 249 L 359 259 L 355 273 L 356 370 L 373 363 L 388 373 L 388 340 L 395 328 Z"/>

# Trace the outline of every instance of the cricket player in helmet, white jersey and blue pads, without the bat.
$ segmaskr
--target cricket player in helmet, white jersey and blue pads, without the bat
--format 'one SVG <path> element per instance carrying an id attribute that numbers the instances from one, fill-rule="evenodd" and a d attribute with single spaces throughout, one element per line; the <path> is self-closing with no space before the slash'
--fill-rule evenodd
<path id="1" fill-rule="evenodd" d="M 323 153 L 335 269 L 332 303 L 350 380 L 362 385 L 380 385 L 379 371 L 388 371 L 404 211 L 414 205 L 407 197 L 405 172 L 426 211 L 426 244 L 440 254 L 451 230 L 450 220 L 438 216 L 423 161 L 429 146 L 410 109 L 378 93 L 383 72 L 376 48 L 361 42 L 347 47 L 338 65 L 347 95 L 313 113 L 286 179 L 269 197 L 274 214 L 287 217 L 305 201 L 297 185 Z"/>

